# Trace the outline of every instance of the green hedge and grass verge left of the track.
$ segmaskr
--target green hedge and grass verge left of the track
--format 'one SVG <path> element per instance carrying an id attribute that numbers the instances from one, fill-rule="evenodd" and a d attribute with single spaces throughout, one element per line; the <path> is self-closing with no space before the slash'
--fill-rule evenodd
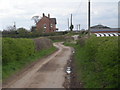
<path id="1" fill-rule="evenodd" d="M 48 39 L 38 38 L 32 39 L 14 39 L 14 38 L 3 38 L 2 39 L 2 78 L 3 81 L 15 74 L 26 65 L 53 53 L 56 48 L 53 47 L 52 42 Z M 41 41 L 38 42 L 37 41 Z M 49 42 L 48 42 L 49 41 Z M 49 47 L 42 46 L 44 44 Z M 43 49 L 38 49 L 39 44 Z"/>

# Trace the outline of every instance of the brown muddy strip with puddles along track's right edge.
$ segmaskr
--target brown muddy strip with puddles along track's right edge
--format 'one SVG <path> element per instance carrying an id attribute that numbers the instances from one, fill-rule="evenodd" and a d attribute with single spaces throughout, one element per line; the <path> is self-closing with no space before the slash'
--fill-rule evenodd
<path id="1" fill-rule="evenodd" d="M 66 73 L 64 87 L 66 88 L 66 90 L 77 89 L 77 88 L 83 89 L 84 85 L 81 81 L 78 80 L 78 76 L 77 76 L 75 59 L 74 59 L 74 54 L 75 54 L 74 49 L 72 49 L 72 53 L 73 54 L 71 55 L 70 59 L 67 61 L 67 65 L 65 66 L 66 69 L 67 67 L 71 67 L 71 73 L 70 74 Z"/>

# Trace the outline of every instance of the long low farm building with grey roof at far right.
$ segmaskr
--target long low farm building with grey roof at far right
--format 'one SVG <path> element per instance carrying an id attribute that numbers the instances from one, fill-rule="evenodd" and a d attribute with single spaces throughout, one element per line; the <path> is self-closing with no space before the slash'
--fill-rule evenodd
<path id="1" fill-rule="evenodd" d="M 110 28 L 103 25 L 96 25 L 90 28 L 91 33 L 118 33 L 119 28 Z"/>

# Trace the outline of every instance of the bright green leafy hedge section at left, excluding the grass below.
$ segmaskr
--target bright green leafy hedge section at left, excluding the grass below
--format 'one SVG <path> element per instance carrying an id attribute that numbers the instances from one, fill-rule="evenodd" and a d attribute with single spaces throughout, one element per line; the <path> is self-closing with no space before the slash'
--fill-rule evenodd
<path id="1" fill-rule="evenodd" d="M 34 41 L 31 39 L 2 39 L 2 62 L 24 60 L 36 52 Z"/>

